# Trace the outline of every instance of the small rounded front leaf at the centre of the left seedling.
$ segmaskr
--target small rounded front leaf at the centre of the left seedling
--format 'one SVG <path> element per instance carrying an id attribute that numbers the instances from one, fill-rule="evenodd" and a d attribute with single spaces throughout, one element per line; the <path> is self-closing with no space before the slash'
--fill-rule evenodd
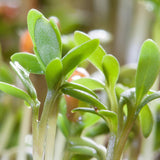
<path id="1" fill-rule="evenodd" d="M 48 88 L 56 88 L 57 84 L 61 82 L 62 77 L 62 62 L 59 58 L 52 60 L 46 68 L 46 80 Z"/>

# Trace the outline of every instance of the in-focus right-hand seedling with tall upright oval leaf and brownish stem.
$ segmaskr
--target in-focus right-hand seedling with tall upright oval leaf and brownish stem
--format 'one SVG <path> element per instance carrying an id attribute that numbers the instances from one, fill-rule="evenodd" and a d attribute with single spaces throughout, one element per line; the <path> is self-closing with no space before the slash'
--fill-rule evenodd
<path id="1" fill-rule="evenodd" d="M 88 38 L 82 32 L 75 33 L 75 39 L 78 44 L 88 40 Z M 153 118 L 148 103 L 159 98 L 160 95 L 159 92 L 150 92 L 149 89 L 159 74 L 160 51 L 156 43 L 152 40 L 146 40 L 144 42 L 140 51 L 136 71 L 135 88 L 131 89 L 124 89 L 124 87 L 118 87 L 116 85 L 119 76 L 119 64 L 115 57 L 104 55 L 103 58 L 100 58 L 100 63 L 97 63 L 98 60 L 95 62 L 90 59 L 105 76 L 106 82 L 104 89 L 108 94 L 109 106 L 105 109 L 97 107 L 96 110 L 94 108 L 80 107 L 74 109 L 74 111 L 90 112 L 102 117 L 106 121 L 110 129 L 110 139 L 107 147 L 107 155 L 104 159 L 119 160 L 124 152 L 129 133 L 135 122 L 138 121 L 137 117 L 140 117 L 141 123 L 138 123 L 142 126 L 144 137 L 148 137 L 151 133 Z M 88 83 L 87 80 L 85 82 L 86 86 L 88 86 L 89 81 Z M 77 81 L 77 83 L 81 83 L 81 80 Z M 116 95 L 115 88 L 119 95 Z M 67 94 L 77 98 L 76 94 L 69 92 Z M 119 100 L 117 97 L 119 97 Z M 127 107 L 127 112 L 125 113 L 124 106 Z"/>

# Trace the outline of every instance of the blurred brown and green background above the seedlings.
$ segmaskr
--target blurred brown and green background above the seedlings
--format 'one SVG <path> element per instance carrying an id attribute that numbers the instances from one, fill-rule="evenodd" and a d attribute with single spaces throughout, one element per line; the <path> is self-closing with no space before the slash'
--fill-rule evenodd
<path id="1" fill-rule="evenodd" d="M 19 39 L 27 28 L 31 8 L 46 17 L 57 16 L 61 33 L 104 29 L 111 41 L 103 44 L 121 64 L 137 61 L 142 42 L 155 39 L 159 0 L 0 0 L 0 43 L 5 60 L 19 51 Z"/>

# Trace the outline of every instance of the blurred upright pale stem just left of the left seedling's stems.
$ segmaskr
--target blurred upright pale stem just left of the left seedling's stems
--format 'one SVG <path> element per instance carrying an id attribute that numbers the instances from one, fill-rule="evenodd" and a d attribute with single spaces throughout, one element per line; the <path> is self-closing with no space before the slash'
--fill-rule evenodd
<path id="1" fill-rule="evenodd" d="M 20 127 L 17 160 L 26 160 L 25 136 L 29 133 L 30 117 L 31 109 L 28 109 L 26 106 L 23 106 L 23 119 Z"/>

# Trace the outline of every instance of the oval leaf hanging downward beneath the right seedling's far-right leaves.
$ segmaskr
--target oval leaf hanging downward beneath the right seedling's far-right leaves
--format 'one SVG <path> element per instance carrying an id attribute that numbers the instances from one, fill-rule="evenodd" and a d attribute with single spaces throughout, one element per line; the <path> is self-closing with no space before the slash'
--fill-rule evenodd
<path id="1" fill-rule="evenodd" d="M 148 105 L 143 107 L 139 115 L 143 136 L 147 138 L 153 128 L 153 116 Z"/>

